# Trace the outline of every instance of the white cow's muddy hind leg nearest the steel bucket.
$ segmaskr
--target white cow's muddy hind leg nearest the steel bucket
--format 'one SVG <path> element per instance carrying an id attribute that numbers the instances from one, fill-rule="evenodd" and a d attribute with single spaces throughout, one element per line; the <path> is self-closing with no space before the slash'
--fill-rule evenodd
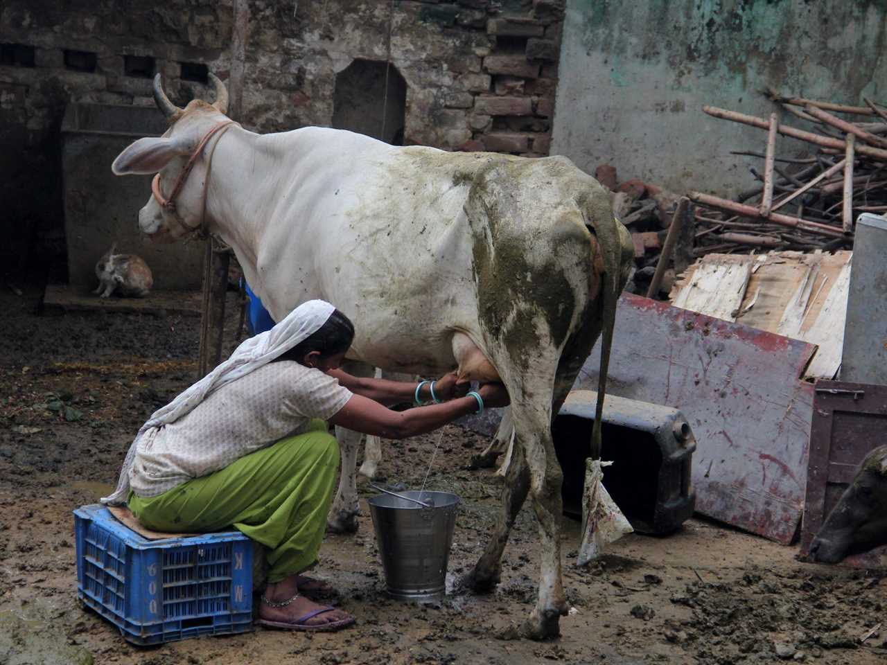
<path id="1" fill-rule="evenodd" d="M 502 487 L 502 509 L 493 528 L 490 542 L 475 564 L 474 569 L 463 579 L 463 583 L 474 591 L 485 593 L 491 591 L 499 582 L 502 573 L 502 553 L 508 542 L 508 534 L 514 527 L 517 513 L 521 512 L 524 499 L 530 489 L 530 469 L 523 456 L 523 450 L 518 447 L 508 465 L 508 474 L 505 485 Z"/>

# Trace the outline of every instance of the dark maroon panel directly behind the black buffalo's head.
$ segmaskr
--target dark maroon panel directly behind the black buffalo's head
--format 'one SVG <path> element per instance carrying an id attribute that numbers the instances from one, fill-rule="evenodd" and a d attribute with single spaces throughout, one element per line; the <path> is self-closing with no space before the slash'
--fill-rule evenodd
<path id="1" fill-rule="evenodd" d="M 810 463 L 801 552 L 810 549 L 856 468 L 883 443 L 887 427 L 887 386 L 845 381 L 817 381 L 810 428 Z M 844 565 L 887 566 L 887 547 L 844 559 Z"/>

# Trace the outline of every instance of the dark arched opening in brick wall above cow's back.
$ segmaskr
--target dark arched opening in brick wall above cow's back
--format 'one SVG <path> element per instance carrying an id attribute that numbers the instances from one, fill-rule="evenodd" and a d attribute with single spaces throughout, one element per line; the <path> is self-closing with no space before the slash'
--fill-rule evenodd
<path id="1" fill-rule="evenodd" d="M 404 145 L 405 106 L 406 82 L 394 65 L 388 66 L 377 60 L 355 60 L 336 74 L 333 110 L 335 129 L 350 129 L 391 145 Z"/>

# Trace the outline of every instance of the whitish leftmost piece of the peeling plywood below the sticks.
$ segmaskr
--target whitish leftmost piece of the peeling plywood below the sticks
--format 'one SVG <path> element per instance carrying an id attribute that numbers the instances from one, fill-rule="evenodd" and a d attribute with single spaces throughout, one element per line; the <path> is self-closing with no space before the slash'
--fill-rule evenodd
<path id="1" fill-rule="evenodd" d="M 675 307 L 690 309 L 725 321 L 735 321 L 751 275 L 750 257 L 736 263 L 699 265 L 674 299 Z"/>

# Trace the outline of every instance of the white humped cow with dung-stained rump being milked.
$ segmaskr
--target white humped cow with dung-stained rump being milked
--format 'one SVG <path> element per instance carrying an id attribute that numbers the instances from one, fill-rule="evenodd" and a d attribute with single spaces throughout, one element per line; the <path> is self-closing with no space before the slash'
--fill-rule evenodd
<path id="1" fill-rule="evenodd" d="M 608 348 L 632 256 L 607 193 L 563 157 L 394 147 L 317 127 L 260 136 L 225 117 L 227 93 L 212 81 L 214 105 L 180 109 L 156 77 L 169 130 L 114 160 L 118 175 L 159 172 L 138 214 L 142 231 L 167 242 L 218 234 L 277 320 L 310 298 L 334 303 L 356 327 L 349 372 L 458 367 L 466 379 L 503 381 L 514 452 L 495 531 L 466 582 L 478 591 L 498 583 L 529 491 L 543 546 L 524 630 L 557 635 L 568 606 L 551 421 L 605 321 Z M 337 434 L 334 508 L 353 515 L 359 434 Z"/>

